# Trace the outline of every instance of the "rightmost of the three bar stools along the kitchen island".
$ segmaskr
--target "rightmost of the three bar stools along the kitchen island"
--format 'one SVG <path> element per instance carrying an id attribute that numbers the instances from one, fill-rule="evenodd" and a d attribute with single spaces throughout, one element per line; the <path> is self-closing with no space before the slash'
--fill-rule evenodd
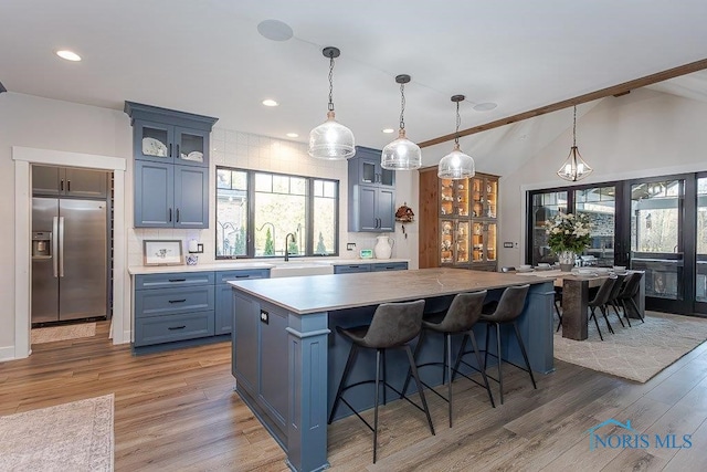
<path id="1" fill-rule="evenodd" d="M 526 296 L 528 295 L 528 290 L 530 289 L 529 284 L 509 286 L 507 287 L 503 295 L 500 295 L 500 300 L 498 301 L 498 305 L 489 305 L 490 310 L 494 310 L 493 313 L 482 314 L 481 321 L 486 322 L 486 353 L 484 356 L 484 369 L 486 369 L 488 356 L 494 356 L 498 360 L 498 378 L 495 379 L 492 376 L 488 376 L 489 379 L 498 382 L 498 388 L 500 390 L 500 405 L 504 405 L 504 379 L 500 365 L 503 361 L 510 364 L 514 367 L 517 367 L 521 370 L 527 371 L 530 375 L 530 381 L 532 381 L 532 388 L 537 389 L 537 385 L 535 382 L 535 377 L 532 376 L 532 369 L 530 368 L 530 361 L 528 360 L 528 354 L 526 353 L 526 346 L 523 343 L 523 338 L 520 337 L 520 331 L 518 329 L 518 325 L 516 324 L 516 319 L 523 313 L 523 308 L 526 304 Z M 520 354 L 523 354 L 523 359 L 526 363 L 526 368 L 518 366 L 516 364 L 510 363 L 507 359 L 504 359 L 502 356 L 502 340 L 500 340 L 500 325 L 511 324 L 516 334 L 516 339 L 518 339 L 518 346 L 520 347 Z M 492 326 L 496 327 L 496 354 L 490 354 L 488 352 L 488 333 Z"/>

